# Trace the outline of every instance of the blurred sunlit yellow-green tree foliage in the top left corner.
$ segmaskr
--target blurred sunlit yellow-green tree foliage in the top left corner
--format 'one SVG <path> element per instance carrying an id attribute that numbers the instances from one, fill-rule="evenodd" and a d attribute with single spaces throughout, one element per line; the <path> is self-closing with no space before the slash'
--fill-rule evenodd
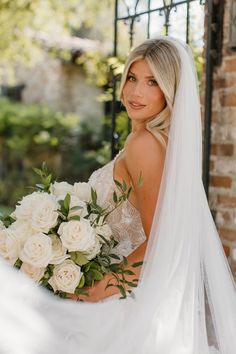
<path id="1" fill-rule="evenodd" d="M 82 37 L 85 34 L 86 37 L 89 29 L 100 40 L 111 36 L 104 21 L 96 19 L 103 16 L 103 13 L 110 14 L 112 6 L 112 0 L 0 1 L 0 63 L 5 67 L 13 67 L 15 63 L 32 64 L 40 60 L 43 46 L 41 40 L 37 39 L 37 33 L 59 38 L 71 35 L 73 31 Z M 112 19 L 109 22 L 111 25 Z M 65 51 L 64 55 L 68 54 Z"/>

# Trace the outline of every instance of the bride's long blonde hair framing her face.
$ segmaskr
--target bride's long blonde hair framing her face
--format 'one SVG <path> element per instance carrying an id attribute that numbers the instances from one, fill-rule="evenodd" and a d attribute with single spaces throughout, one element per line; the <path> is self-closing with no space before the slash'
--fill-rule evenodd
<path id="1" fill-rule="evenodd" d="M 130 66 L 135 61 L 142 59 L 145 59 L 149 64 L 166 100 L 165 108 L 155 118 L 146 123 L 146 129 L 166 148 L 166 142 L 162 134 L 167 137 L 169 134 L 170 118 L 180 78 L 180 56 L 174 44 L 165 39 L 148 39 L 136 47 L 125 63 L 120 84 L 121 101 Z"/>

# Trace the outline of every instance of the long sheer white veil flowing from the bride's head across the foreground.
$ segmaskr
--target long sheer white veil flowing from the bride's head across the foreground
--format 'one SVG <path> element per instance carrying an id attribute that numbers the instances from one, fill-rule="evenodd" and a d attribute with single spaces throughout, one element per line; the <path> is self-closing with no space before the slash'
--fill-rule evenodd
<path id="1" fill-rule="evenodd" d="M 58 300 L 2 263 L 1 353 L 236 353 L 235 283 L 201 178 L 194 61 L 184 42 L 158 38 L 176 46 L 181 75 L 135 297 L 104 303 Z"/>

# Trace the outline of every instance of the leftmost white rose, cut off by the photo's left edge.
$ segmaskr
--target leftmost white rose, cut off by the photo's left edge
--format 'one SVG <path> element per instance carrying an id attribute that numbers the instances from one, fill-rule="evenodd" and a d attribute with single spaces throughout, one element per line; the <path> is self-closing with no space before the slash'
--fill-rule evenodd
<path id="1" fill-rule="evenodd" d="M 19 243 L 14 233 L 9 229 L 0 230 L 0 255 L 14 265 L 19 257 L 19 251 Z"/>

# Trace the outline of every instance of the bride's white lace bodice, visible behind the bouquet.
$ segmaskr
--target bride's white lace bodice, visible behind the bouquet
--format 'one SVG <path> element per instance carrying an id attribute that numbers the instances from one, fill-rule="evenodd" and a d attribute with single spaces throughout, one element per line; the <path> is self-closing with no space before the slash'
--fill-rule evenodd
<path id="1" fill-rule="evenodd" d="M 96 189 L 98 204 L 101 206 L 114 205 L 113 191 L 119 192 L 113 180 L 113 169 L 121 152 L 122 150 L 105 166 L 95 170 L 89 178 L 88 182 Z M 139 211 L 128 199 L 108 216 L 107 222 L 119 241 L 117 254 L 127 257 L 146 240 Z"/>

